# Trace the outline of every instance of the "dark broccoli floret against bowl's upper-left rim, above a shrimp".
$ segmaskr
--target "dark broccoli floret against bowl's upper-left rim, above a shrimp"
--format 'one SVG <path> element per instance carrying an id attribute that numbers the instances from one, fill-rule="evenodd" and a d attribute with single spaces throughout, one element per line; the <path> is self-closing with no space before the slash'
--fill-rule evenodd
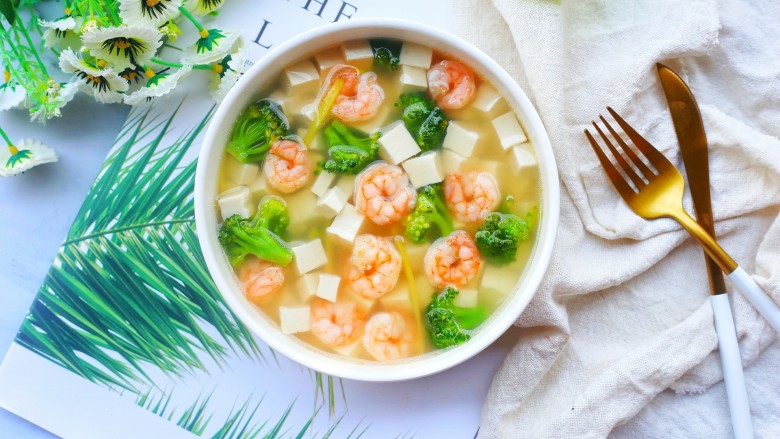
<path id="1" fill-rule="evenodd" d="M 241 163 L 259 162 L 271 145 L 289 134 L 290 125 L 276 102 L 261 99 L 244 110 L 233 125 L 227 152 Z"/>

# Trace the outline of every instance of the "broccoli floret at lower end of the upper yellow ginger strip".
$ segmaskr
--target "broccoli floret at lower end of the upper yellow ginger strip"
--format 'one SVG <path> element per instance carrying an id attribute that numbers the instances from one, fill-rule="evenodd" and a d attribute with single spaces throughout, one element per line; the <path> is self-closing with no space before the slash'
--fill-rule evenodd
<path id="1" fill-rule="evenodd" d="M 339 121 L 323 130 L 328 144 L 328 160 L 322 168 L 333 174 L 357 174 L 379 155 L 380 133 L 366 135 Z"/>

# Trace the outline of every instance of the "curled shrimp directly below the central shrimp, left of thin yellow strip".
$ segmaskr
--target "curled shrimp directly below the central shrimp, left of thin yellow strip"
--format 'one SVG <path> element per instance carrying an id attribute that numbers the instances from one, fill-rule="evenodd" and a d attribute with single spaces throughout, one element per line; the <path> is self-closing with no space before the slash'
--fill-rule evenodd
<path id="1" fill-rule="evenodd" d="M 401 254 L 387 239 L 374 235 L 355 238 L 349 262 L 349 285 L 366 299 L 392 291 L 401 273 Z"/>

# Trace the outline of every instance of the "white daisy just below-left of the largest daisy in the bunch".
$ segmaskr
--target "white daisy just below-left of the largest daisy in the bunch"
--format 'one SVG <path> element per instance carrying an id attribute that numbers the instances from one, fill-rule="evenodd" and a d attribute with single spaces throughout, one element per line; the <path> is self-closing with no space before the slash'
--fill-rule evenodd
<path id="1" fill-rule="evenodd" d="M 60 54 L 60 69 L 74 73 L 81 80 L 79 88 L 104 104 L 122 102 L 122 93 L 130 87 L 113 69 L 98 69 L 87 64 L 72 50 Z"/>

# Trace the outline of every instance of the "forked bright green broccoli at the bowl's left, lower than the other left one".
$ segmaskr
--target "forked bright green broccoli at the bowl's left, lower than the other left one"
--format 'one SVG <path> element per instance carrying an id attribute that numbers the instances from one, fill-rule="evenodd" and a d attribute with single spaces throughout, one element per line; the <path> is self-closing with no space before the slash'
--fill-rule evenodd
<path id="1" fill-rule="evenodd" d="M 219 230 L 219 243 L 233 266 L 253 254 L 274 264 L 286 266 L 293 252 L 279 237 L 287 229 L 290 216 L 287 206 L 277 197 L 264 197 L 253 218 L 232 215 Z"/>

